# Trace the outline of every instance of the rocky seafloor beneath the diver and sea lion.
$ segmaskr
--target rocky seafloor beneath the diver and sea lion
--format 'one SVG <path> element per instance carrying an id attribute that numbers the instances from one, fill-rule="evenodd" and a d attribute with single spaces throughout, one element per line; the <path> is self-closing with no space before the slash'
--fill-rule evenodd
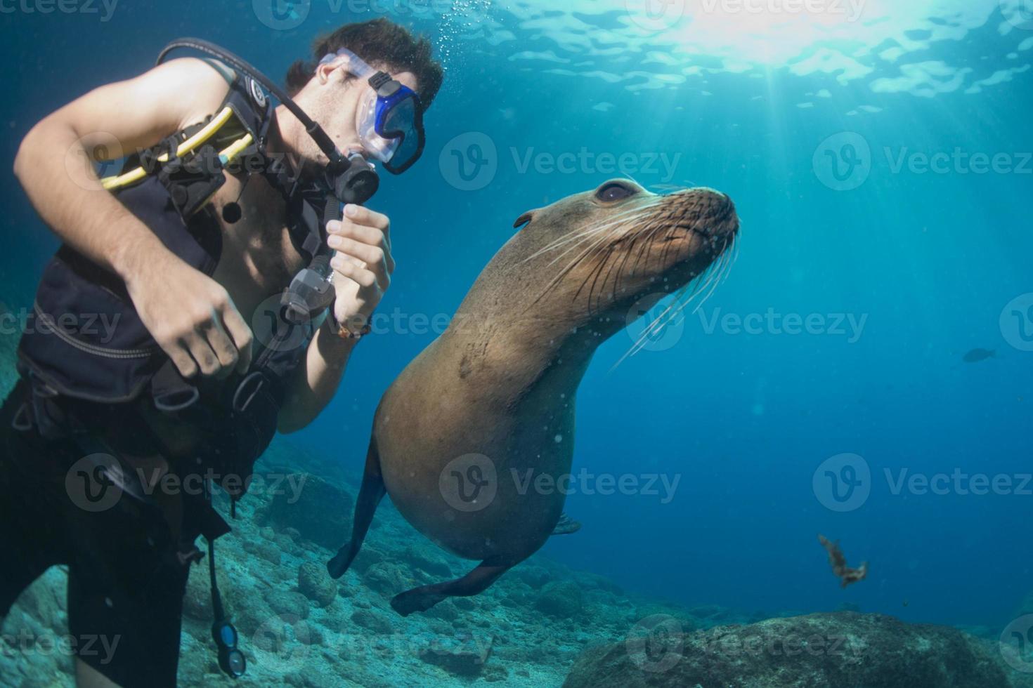
<path id="1" fill-rule="evenodd" d="M 0 338 L 0 360 L 10 353 Z M 4 392 L 9 383 L 0 380 Z M 349 530 L 358 476 L 283 439 L 256 474 L 217 547 L 248 674 L 231 681 L 218 668 L 202 562 L 184 602 L 182 686 L 1033 688 L 1033 674 L 1012 668 L 1033 671 L 1033 661 L 991 631 L 846 611 L 769 619 L 687 608 L 543 556 L 481 595 L 402 618 L 392 596 L 473 563 L 442 553 L 384 504 L 354 565 L 334 581 L 323 562 Z M 0 686 L 73 685 L 61 644 L 65 578 L 52 568 L 3 620 Z"/>

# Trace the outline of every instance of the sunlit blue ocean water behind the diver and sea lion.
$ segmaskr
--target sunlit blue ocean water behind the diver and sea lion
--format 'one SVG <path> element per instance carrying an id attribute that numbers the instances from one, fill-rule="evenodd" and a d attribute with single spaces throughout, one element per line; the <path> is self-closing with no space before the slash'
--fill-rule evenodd
<path id="1" fill-rule="evenodd" d="M 641 4 L 5 5 L 0 157 L 181 35 L 278 77 L 317 32 L 410 25 L 447 73 L 425 159 L 371 202 L 393 220 L 392 324 L 298 439 L 362 465 L 381 392 L 525 210 L 612 176 L 714 187 L 742 217 L 738 260 L 644 351 L 614 367 L 634 343 L 623 333 L 598 351 L 577 408 L 574 473 L 591 473 L 589 490 L 567 502 L 585 527 L 545 553 L 686 603 L 846 602 L 1003 626 L 1033 588 L 1030 8 Z M 0 174 L 0 284 L 18 308 L 56 240 L 9 165 Z M 977 348 L 996 356 L 964 362 Z M 956 473 L 969 478 L 936 480 Z M 916 474 L 942 494 L 906 484 Z M 603 476 L 641 489 L 600 494 Z M 869 561 L 869 579 L 841 590 L 819 532 Z"/>

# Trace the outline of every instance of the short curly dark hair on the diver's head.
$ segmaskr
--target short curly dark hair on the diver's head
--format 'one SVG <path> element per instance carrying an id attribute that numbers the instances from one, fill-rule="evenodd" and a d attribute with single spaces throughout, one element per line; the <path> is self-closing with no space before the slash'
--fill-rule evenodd
<path id="1" fill-rule="evenodd" d="M 313 62 L 299 60 L 287 70 L 287 93 L 296 95 L 315 72 L 324 55 L 346 47 L 366 62 L 384 64 L 393 71 L 416 75 L 419 99 L 430 107 L 441 89 L 444 70 L 431 56 L 431 41 L 386 19 L 346 24 L 337 31 L 319 36 L 312 43 Z"/>

